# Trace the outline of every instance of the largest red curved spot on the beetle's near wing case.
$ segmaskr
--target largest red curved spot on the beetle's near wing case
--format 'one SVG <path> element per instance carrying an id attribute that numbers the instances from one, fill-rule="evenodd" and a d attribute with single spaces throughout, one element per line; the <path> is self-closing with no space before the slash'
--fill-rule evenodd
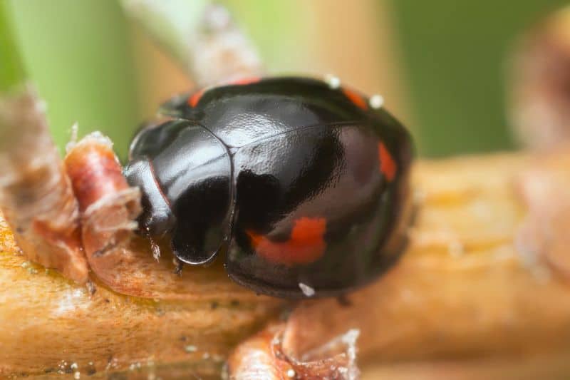
<path id="1" fill-rule="evenodd" d="M 246 230 L 257 254 L 271 262 L 284 265 L 309 264 L 320 258 L 326 249 L 326 219 L 301 217 L 295 220 L 291 237 L 285 242 L 272 242 L 264 235 Z"/>

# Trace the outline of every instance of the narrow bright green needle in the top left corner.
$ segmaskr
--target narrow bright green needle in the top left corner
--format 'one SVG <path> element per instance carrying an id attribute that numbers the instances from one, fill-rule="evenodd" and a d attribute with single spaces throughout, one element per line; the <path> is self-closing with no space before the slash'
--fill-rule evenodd
<path id="1" fill-rule="evenodd" d="M 26 71 L 11 29 L 7 1 L 0 1 L 0 93 L 25 83 Z"/>

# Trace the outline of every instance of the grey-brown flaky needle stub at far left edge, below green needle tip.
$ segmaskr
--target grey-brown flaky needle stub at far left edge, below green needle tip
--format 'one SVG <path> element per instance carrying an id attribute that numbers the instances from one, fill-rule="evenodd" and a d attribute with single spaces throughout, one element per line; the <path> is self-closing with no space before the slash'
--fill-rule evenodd
<path id="1" fill-rule="evenodd" d="M 0 209 L 26 256 L 85 283 L 79 210 L 31 86 L 0 93 Z"/>

